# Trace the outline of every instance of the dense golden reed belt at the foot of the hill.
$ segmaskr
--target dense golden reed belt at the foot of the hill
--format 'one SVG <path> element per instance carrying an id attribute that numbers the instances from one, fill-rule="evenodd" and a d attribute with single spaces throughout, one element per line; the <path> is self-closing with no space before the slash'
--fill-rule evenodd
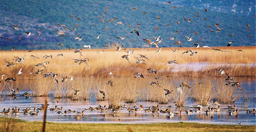
<path id="1" fill-rule="evenodd" d="M 59 50 L 59 51 L 1 51 L 0 53 L 0 73 L 9 74 L 9 76 L 15 76 L 20 68 L 22 68 L 22 74 L 20 79 L 31 79 L 29 72 L 35 72 L 34 65 L 40 62 L 49 61 L 49 64 L 46 64 L 46 72 L 54 72 L 59 74 L 65 74 L 69 76 L 108 76 L 108 73 L 112 71 L 118 76 L 133 76 L 135 72 L 146 73 L 147 68 L 154 68 L 156 70 L 167 70 L 168 61 L 176 60 L 179 64 L 187 64 L 189 62 L 209 62 L 213 64 L 252 64 L 256 62 L 255 56 L 255 47 L 216 47 L 216 49 L 222 49 L 224 51 L 231 51 L 228 53 L 213 51 L 211 49 L 205 48 L 179 48 L 179 51 L 174 53 L 172 49 L 177 48 L 164 48 L 160 53 L 156 53 L 155 49 L 149 49 L 149 51 L 143 51 L 142 49 L 134 49 L 135 52 L 129 55 L 129 60 L 131 63 L 127 62 L 124 58 L 121 58 L 122 55 L 127 55 L 123 51 L 115 51 L 115 49 L 106 49 L 102 54 L 98 54 L 97 51 L 102 51 L 102 49 L 84 49 L 82 50 L 82 55 L 79 53 L 74 53 L 74 50 Z M 194 56 L 188 54 L 182 55 L 183 51 L 191 49 L 197 51 L 198 53 Z M 238 49 L 243 50 L 239 52 Z M 63 53 L 63 56 L 57 56 L 57 54 Z M 145 59 L 146 64 L 136 64 L 135 57 L 141 55 L 146 55 L 149 60 Z M 9 62 L 13 62 L 12 58 L 14 56 L 25 56 L 24 60 L 25 65 L 17 64 L 17 66 L 7 67 L 7 63 L 4 59 Z M 30 55 L 38 56 L 38 58 L 32 58 Z M 53 55 L 53 58 L 42 58 L 44 55 Z M 78 64 L 74 62 L 74 58 L 83 59 L 89 58 L 88 65 L 91 70 L 89 70 L 86 64 Z M 173 66 L 173 65 L 172 65 Z M 169 65 L 170 69 L 172 66 Z M 229 72 L 232 72 L 234 76 L 247 76 L 255 77 L 256 68 L 253 66 L 219 66 L 220 68 L 228 69 Z M 214 76 L 212 69 L 207 68 L 207 70 L 199 72 L 193 71 L 181 71 L 178 74 L 183 74 L 185 76 L 194 76 L 200 77 L 200 75 L 207 74 L 207 76 Z M 41 68 L 42 69 L 42 68 Z M 189 72 L 189 74 L 187 73 Z M 216 72 L 216 71 L 215 71 Z M 163 76 L 177 76 L 172 72 L 163 72 Z"/>

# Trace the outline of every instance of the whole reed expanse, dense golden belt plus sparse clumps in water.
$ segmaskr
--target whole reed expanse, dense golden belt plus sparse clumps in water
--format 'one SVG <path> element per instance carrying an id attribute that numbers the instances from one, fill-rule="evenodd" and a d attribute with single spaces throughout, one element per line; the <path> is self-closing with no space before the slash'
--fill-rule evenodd
<path id="1" fill-rule="evenodd" d="M 25 56 L 23 64 L 17 64 L 16 66 L 7 67 L 5 61 L 0 62 L 0 74 L 7 74 L 7 77 L 15 77 L 18 70 L 22 68 L 23 74 L 16 76 L 17 81 L 13 83 L 1 83 L 1 89 L 16 88 L 17 85 L 22 87 L 26 85 L 23 82 L 30 80 L 30 89 L 35 97 L 48 96 L 51 91 L 56 98 L 70 97 L 73 100 L 87 99 L 94 95 L 97 100 L 103 100 L 103 95 L 99 91 L 106 91 L 106 98 L 110 107 L 116 108 L 121 102 L 137 102 L 137 101 L 154 101 L 159 103 L 174 102 L 177 106 L 184 106 L 186 102 L 193 98 L 198 104 L 207 105 L 212 98 L 220 100 L 222 103 L 232 103 L 240 99 L 240 91 L 236 87 L 226 86 L 222 81 L 207 81 L 207 79 L 201 80 L 201 84 L 191 84 L 192 89 L 181 87 L 181 90 L 177 90 L 179 84 L 182 81 L 182 77 L 225 77 L 218 75 L 216 68 L 222 68 L 227 70 L 230 76 L 249 76 L 255 77 L 255 66 L 244 66 L 242 64 L 255 63 L 255 47 L 217 47 L 225 51 L 232 51 L 223 53 L 220 51 L 213 51 L 210 49 L 195 49 L 195 48 L 179 48 L 177 53 L 173 53 L 172 49 L 162 49 L 160 53 L 156 53 L 154 49 L 149 51 L 143 51 L 142 49 L 134 49 L 135 52 L 129 55 L 130 62 L 127 62 L 122 55 L 127 53 L 123 51 L 115 51 L 115 49 L 108 49 L 102 54 L 98 55 L 96 51 L 101 49 L 83 50 L 82 55 L 74 53 L 74 50 L 68 51 L 1 51 L 0 60 L 6 59 L 11 62 L 13 56 Z M 198 51 L 197 55 L 190 56 L 182 55 L 183 51 L 191 49 Z M 238 52 L 238 49 L 242 49 L 243 52 Z M 63 53 L 64 56 L 57 56 L 58 53 Z M 149 60 L 146 60 L 146 64 L 136 64 L 135 57 L 146 55 Z M 38 58 L 32 58 L 30 55 L 38 56 Z M 42 58 L 44 55 L 53 55 L 53 58 Z M 88 69 L 86 64 L 78 64 L 74 62 L 74 58 L 83 59 L 89 58 Z M 172 72 L 172 66 L 169 66 L 167 62 L 169 60 L 177 60 L 180 64 L 186 64 L 189 62 L 210 62 L 210 63 L 230 63 L 241 64 L 239 66 L 216 66 L 208 67 L 207 70 L 199 72 L 191 71 L 189 69 L 185 71 Z M 62 76 L 73 76 L 75 80 L 55 83 L 50 77 L 44 77 L 42 74 L 28 74 L 29 72 L 35 72 L 34 65 L 40 62 L 49 61 L 46 64 L 47 72 L 54 72 L 55 74 L 61 74 Z M 155 70 L 165 70 L 164 72 L 158 72 L 158 74 L 149 74 L 147 68 L 153 68 Z M 42 69 L 42 68 L 41 68 Z M 110 72 L 115 77 L 110 78 L 108 75 Z M 143 78 L 134 78 L 135 72 L 143 73 Z M 151 81 L 155 81 L 155 76 L 163 76 L 164 79 L 159 80 L 160 86 L 149 85 Z M 168 77 L 181 77 L 172 79 Z M 107 85 L 109 80 L 113 81 L 113 87 Z M 217 85 L 214 85 L 217 84 Z M 21 85 L 21 86 L 20 86 Z M 81 90 L 79 95 L 73 95 L 75 92 L 71 87 Z M 174 90 L 170 95 L 165 95 L 164 89 Z M 205 89 L 203 91 L 202 89 Z M 181 92 L 182 91 L 182 92 Z M 213 97 L 214 96 L 214 97 Z"/>

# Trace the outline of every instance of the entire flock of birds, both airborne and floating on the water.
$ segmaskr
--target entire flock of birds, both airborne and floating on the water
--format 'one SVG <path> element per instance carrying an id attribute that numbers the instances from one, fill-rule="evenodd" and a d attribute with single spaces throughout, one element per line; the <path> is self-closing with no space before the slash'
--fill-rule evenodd
<path id="1" fill-rule="evenodd" d="M 172 4 L 170 1 L 167 2 L 168 4 Z M 108 14 L 108 10 L 109 10 L 109 7 L 105 7 L 104 9 L 106 9 L 106 11 L 104 11 L 104 13 L 102 14 L 101 17 L 99 17 L 99 19 L 102 21 L 102 22 L 106 22 L 106 23 L 109 23 L 108 21 L 106 20 L 103 20 L 103 18 L 106 16 L 106 14 Z M 176 9 L 176 7 L 174 7 L 174 9 Z M 133 7 L 133 10 L 137 11 L 136 7 Z M 205 9 L 205 12 L 207 12 L 208 10 Z M 143 11 L 143 15 L 146 15 L 146 12 Z M 74 17 L 74 15 L 70 15 L 72 18 Z M 199 16 L 199 12 L 196 13 L 196 16 L 195 18 L 197 18 Z M 160 19 L 161 17 L 160 16 L 157 16 L 157 19 Z M 256 16 L 255 16 L 256 18 Z M 109 21 L 110 22 L 114 22 L 116 19 L 118 18 L 113 18 L 113 19 L 110 19 Z M 77 18 L 77 20 L 81 20 L 81 18 Z M 187 19 L 187 18 L 183 18 L 183 20 L 187 21 L 187 22 L 191 22 L 191 19 Z M 204 20 L 207 20 L 207 18 L 204 18 Z M 179 22 L 176 22 L 177 24 L 180 23 Z M 115 23 L 115 26 L 117 26 L 117 24 L 121 24 L 122 26 L 124 26 L 123 22 L 116 22 Z M 140 30 L 140 27 L 139 27 L 140 24 L 137 24 L 137 28 L 135 28 L 135 30 L 132 30 L 131 33 L 136 33 L 136 35 L 139 37 L 139 30 Z M 166 24 L 167 26 L 170 26 L 170 24 Z M 61 28 L 61 27 L 65 27 L 65 30 L 69 31 L 69 28 L 67 26 L 65 26 L 65 24 L 57 24 L 58 28 Z M 79 28 L 79 26 L 77 24 L 75 24 L 76 28 Z M 94 26 L 94 25 L 91 25 L 91 26 Z M 133 26 L 129 26 L 129 28 L 132 28 Z M 208 26 L 208 28 L 210 28 L 211 26 Z M 215 24 L 215 27 L 216 27 L 216 32 L 220 33 L 221 30 L 224 30 L 226 28 L 220 28 L 219 27 L 219 24 Z M 13 25 L 13 30 L 18 30 L 20 27 L 18 25 Z M 52 28 L 51 26 L 49 26 L 48 28 Z M 40 28 L 38 28 L 39 31 L 41 31 Z M 74 31 L 76 31 L 76 29 L 73 29 Z M 104 29 L 104 30 L 108 30 L 108 28 Z M 155 30 L 158 30 L 158 27 L 156 27 Z M 249 30 L 249 24 L 247 24 L 247 28 L 245 30 Z M 61 32 L 61 30 L 56 30 L 55 33 L 58 32 L 58 35 L 61 36 L 61 38 L 67 36 L 65 35 L 64 32 Z M 212 30 L 210 30 L 210 32 L 213 32 Z M 178 31 L 176 31 L 176 33 L 179 33 Z M 27 36 L 30 36 L 32 35 L 31 32 L 25 32 L 25 34 Z M 194 32 L 195 35 L 197 35 L 197 32 Z M 77 37 L 74 37 L 76 40 L 78 41 L 81 41 L 84 37 L 80 36 L 79 33 L 77 33 Z M 230 34 L 230 37 L 232 37 L 234 34 Z M 40 33 L 38 34 L 38 36 L 40 36 Z M 129 35 L 126 35 L 125 37 L 120 37 L 120 36 L 117 36 L 117 39 L 126 39 L 127 37 L 129 37 Z M 159 37 L 153 37 L 153 40 L 152 39 L 147 39 L 147 38 L 143 38 L 143 41 L 144 41 L 144 44 L 147 43 L 147 45 L 152 45 L 156 48 L 156 52 L 160 52 L 162 50 L 162 47 L 160 48 L 159 47 L 159 44 L 162 42 L 163 39 L 160 39 L 160 36 Z M 193 41 L 192 37 L 188 37 L 188 36 L 184 36 L 184 37 L 187 37 L 187 41 Z M 248 37 L 251 37 L 250 35 L 248 35 Z M 3 38 L 3 36 L 1 36 L 1 38 Z M 22 40 L 21 37 L 18 37 L 19 40 Z M 100 39 L 100 35 L 98 35 L 96 37 L 96 39 Z M 176 39 L 176 37 L 171 37 L 170 40 L 174 40 Z M 203 38 L 201 38 L 203 39 Z M 11 41 L 11 39 L 8 39 L 6 38 L 6 40 L 8 41 Z M 202 41 L 203 43 L 203 41 Z M 229 47 L 231 45 L 231 43 L 236 43 L 235 41 L 230 41 L 228 42 L 228 45 L 227 47 Z M 174 43 L 175 45 L 179 45 L 179 47 L 182 47 L 181 45 L 181 41 L 175 41 Z M 200 45 L 199 45 L 199 41 L 195 41 L 195 43 L 193 44 L 195 45 L 195 47 L 199 48 Z M 59 46 L 62 47 L 63 44 L 62 43 L 59 43 Z M 108 47 L 110 46 L 110 43 L 106 43 L 106 46 L 104 47 L 104 49 L 108 49 Z M 123 45 L 115 45 L 114 43 L 112 43 L 112 46 L 113 47 L 116 47 L 116 51 L 121 51 L 123 49 Z M 88 48 L 90 49 L 90 45 L 84 45 L 83 46 L 84 48 Z M 208 47 L 208 46 L 203 46 L 205 48 L 208 48 L 208 49 L 213 49 L 211 47 Z M 69 48 L 71 50 L 71 48 Z M 144 50 L 147 50 L 146 48 L 143 48 Z M 13 50 L 15 50 L 15 47 L 13 47 Z M 124 50 L 126 50 L 126 48 L 124 48 Z M 179 49 L 174 49 L 173 52 L 177 52 Z M 213 49 L 214 51 L 222 51 L 220 49 Z M 104 50 L 103 50 L 104 51 Z M 98 54 L 101 54 L 103 51 L 100 51 L 98 52 Z M 241 51 L 241 50 L 238 50 L 238 51 Z M 32 51 L 29 51 L 29 52 L 32 52 Z M 123 55 L 121 56 L 121 58 L 125 58 L 125 60 L 127 60 L 127 62 L 130 63 L 130 60 L 129 60 L 129 55 L 130 54 L 133 54 L 133 49 L 128 49 L 127 51 L 127 55 Z M 182 54 L 185 54 L 185 53 L 191 53 L 190 55 L 193 56 L 197 53 L 197 51 L 192 51 L 192 50 L 187 50 L 185 52 L 183 52 Z M 222 51 L 222 52 L 228 52 L 228 51 Z M 242 51 L 241 51 L 242 52 Z M 82 56 L 82 49 L 75 49 L 75 53 L 80 53 L 80 56 Z M 58 54 L 57 56 L 63 56 L 63 54 Z M 32 58 L 38 58 L 40 59 L 38 56 L 34 56 L 34 55 L 30 55 L 30 57 Z M 53 58 L 52 55 L 45 55 L 43 56 L 42 58 Z M 145 59 L 148 60 L 148 58 L 146 57 L 146 55 L 141 55 L 139 54 L 138 57 L 135 57 L 136 60 L 137 60 L 137 64 L 146 64 L 144 61 Z M 15 56 L 15 58 L 13 58 L 13 61 L 14 62 L 9 62 L 8 60 L 5 60 L 5 62 L 7 63 L 7 67 L 11 67 L 11 66 L 16 66 L 17 64 L 24 64 L 24 60 L 25 60 L 25 56 L 24 57 L 20 57 L 20 56 Z M 90 67 L 88 66 L 87 64 L 87 61 L 89 60 L 88 58 L 84 58 L 84 59 L 74 59 L 75 60 L 75 63 L 79 63 L 79 64 L 82 64 L 82 63 L 85 63 L 87 68 L 90 69 Z M 179 64 L 178 62 L 176 62 L 176 60 L 170 60 L 168 61 L 168 64 Z M 49 61 L 46 61 L 46 62 L 42 62 L 42 63 L 38 63 L 38 64 L 35 64 L 34 65 L 34 68 L 36 70 L 36 72 L 30 72 L 29 74 L 42 74 L 44 70 L 46 70 L 46 65 L 49 64 Z M 42 67 L 42 69 L 40 69 L 40 67 Z M 153 68 L 148 68 L 147 69 L 148 72 L 150 74 L 157 74 L 157 70 L 154 70 Z M 238 81 L 234 81 L 234 79 L 232 77 L 229 76 L 228 72 L 226 70 L 222 70 L 222 69 L 216 69 L 218 70 L 218 74 L 221 75 L 221 74 L 225 74 L 226 75 L 226 85 L 232 85 L 232 87 L 237 87 L 238 89 L 241 89 L 240 87 L 240 82 Z M 18 73 L 16 74 L 16 76 L 22 74 L 22 68 L 20 68 L 20 70 L 18 71 Z M 115 75 L 112 74 L 112 72 L 110 72 L 110 77 L 114 77 Z M 51 79 L 53 79 L 54 82 L 56 83 L 59 83 L 59 79 L 57 78 L 57 76 L 61 76 L 61 74 L 55 74 L 53 72 L 48 72 L 48 73 L 45 73 L 44 74 L 44 77 L 51 77 Z M 4 79 L 5 77 L 5 74 L 3 74 L 1 76 L 1 80 L 0 80 L 0 83 L 3 83 L 2 81 L 6 81 L 7 83 L 11 82 L 11 81 L 16 81 L 16 77 L 7 77 L 6 79 Z M 137 77 L 142 77 L 144 78 L 143 74 L 140 74 L 139 72 L 136 72 L 135 74 L 135 78 Z M 72 81 L 73 80 L 73 77 L 69 77 L 69 76 L 61 76 L 61 82 L 64 82 L 64 81 L 67 81 L 67 80 L 70 80 Z M 156 81 L 152 81 L 150 83 L 150 85 L 156 85 L 158 87 L 161 87 L 158 79 L 162 79 L 162 77 L 157 77 L 156 76 Z M 113 81 L 112 80 L 109 80 L 106 85 L 110 85 L 113 87 Z M 188 88 L 188 89 L 191 89 L 191 86 L 189 85 L 188 82 L 183 82 L 179 85 L 179 87 L 177 87 L 175 90 L 176 91 L 179 91 L 180 93 L 182 93 L 182 89 L 181 88 Z M 81 90 L 79 89 L 75 89 L 75 87 L 71 87 L 71 89 L 73 89 L 74 91 L 74 95 L 79 95 Z M 15 99 L 19 93 L 19 89 L 10 89 L 10 95 L 13 96 Z M 170 89 L 164 89 L 164 91 L 166 91 L 166 96 L 171 94 L 174 89 L 170 90 Z M 106 91 L 99 91 L 100 93 L 102 93 L 103 95 L 103 99 L 106 98 Z M 32 94 L 30 94 L 28 91 L 26 93 L 23 93 L 22 96 L 26 97 L 26 99 L 29 99 Z M 57 102 L 58 103 L 58 102 Z M 79 114 L 79 115 L 84 115 L 84 112 L 86 111 L 96 111 L 96 112 L 112 112 L 113 115 L 117 115 L 119 113 L 119 110 L 127 110 L 127 112 L 129 114 L 137 114 L 137 112 L 139 111 L 143 111 L 145 113 L 147 112 L 152 112 L 152 114 L 160 114 L 160 113 L 163 113 L 163 114 L 168 114 L 169 116 L 174 116 L 174 115 L 181 115 L 181 112 L 184 110 L 184 108 L 176 108 L 176 112 L 173 112 L 173 110 L 171 109 L 172 106 L 168 106 L 167 108 L 166 107 L 160 107 L 159 105 L 157 106 L 149 106 L 148 108 L 144 108 L 142 105 L 140 105 L 139 107 L 137 106 L 133 106 L 133 107 L 129 107 L 127 108 L 127 106 L 125 105 L 120 105 L 118 106 L 117 108 L 108 108 L 105 106 L 97 106 L 96 108 L 84 108 L 84 110 L 82 110 L 81 112 L 78 112 L 78 111 L 75 111 L 75 110 L 63 110 L 63 107 L 61 108 L 57 108 L 57 104 L 55 105 L 54 108 L 49 108 L 50 111 L 52 112 L 56 112 L 57 114 L 68 114 L 68 113 L 74 113 L 74 114 Z M 10 115 L 10 114 L 13 114 L 14 116 L 20 114 L 20 112 L 22 112 L 22 114 L 24 115 L 28 115 L 30 114 L 31 116 L 37 116 L 38 113 L 42 110 L 44 110 L 44 105 L 42 105 L 42 107 L 40 108 L 34 108 L 34 111 L 33 110 L 30 110 L 30 108 L 24 108 L 24 109 L 20 109 L 20 108 L 8 108 L 8 109 L 3 109 L 2 112 L 0 112 L 1 115 Z M 228 113 L 230 115 L 236 115 L 238 116 L 238 108 L 236 108 L 236 106 L 228 106 L 227 108 L 223 108 L 223 109 L 226 109 L 228 110 Z M 188 115 L 191 115 L 191 114 L 203 114 L 205 113 L 206 115 L 213 115 L 214 112 L 220 112 L 220 104 L 219 102 L 214 102 L 213 104 L 210 104 L 208 106 L 208 108 L 205 108 L 205 110 L 203 110 L 203 107 L 202 106 L 192 106 L 192 107 L 189 107 L 187 110 L 184 110 L 185 111 L 185 114 L 188 114 Z M 253 110 L 247 110 L 247 113 L 253 113 L 253 115 L 255 115 L 255 109 Z"/>

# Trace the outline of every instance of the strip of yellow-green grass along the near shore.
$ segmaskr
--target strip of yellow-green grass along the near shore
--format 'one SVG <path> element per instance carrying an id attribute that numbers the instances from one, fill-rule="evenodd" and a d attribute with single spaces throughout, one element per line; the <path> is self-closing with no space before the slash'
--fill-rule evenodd
<path id="1" fill-rule="evenodd" d="M 199 123 L 46 123 L 46 131 L 255 131 L 253 125 Z M 0 118 L 0 131 L 42 131 L 42 122 Z"/>

